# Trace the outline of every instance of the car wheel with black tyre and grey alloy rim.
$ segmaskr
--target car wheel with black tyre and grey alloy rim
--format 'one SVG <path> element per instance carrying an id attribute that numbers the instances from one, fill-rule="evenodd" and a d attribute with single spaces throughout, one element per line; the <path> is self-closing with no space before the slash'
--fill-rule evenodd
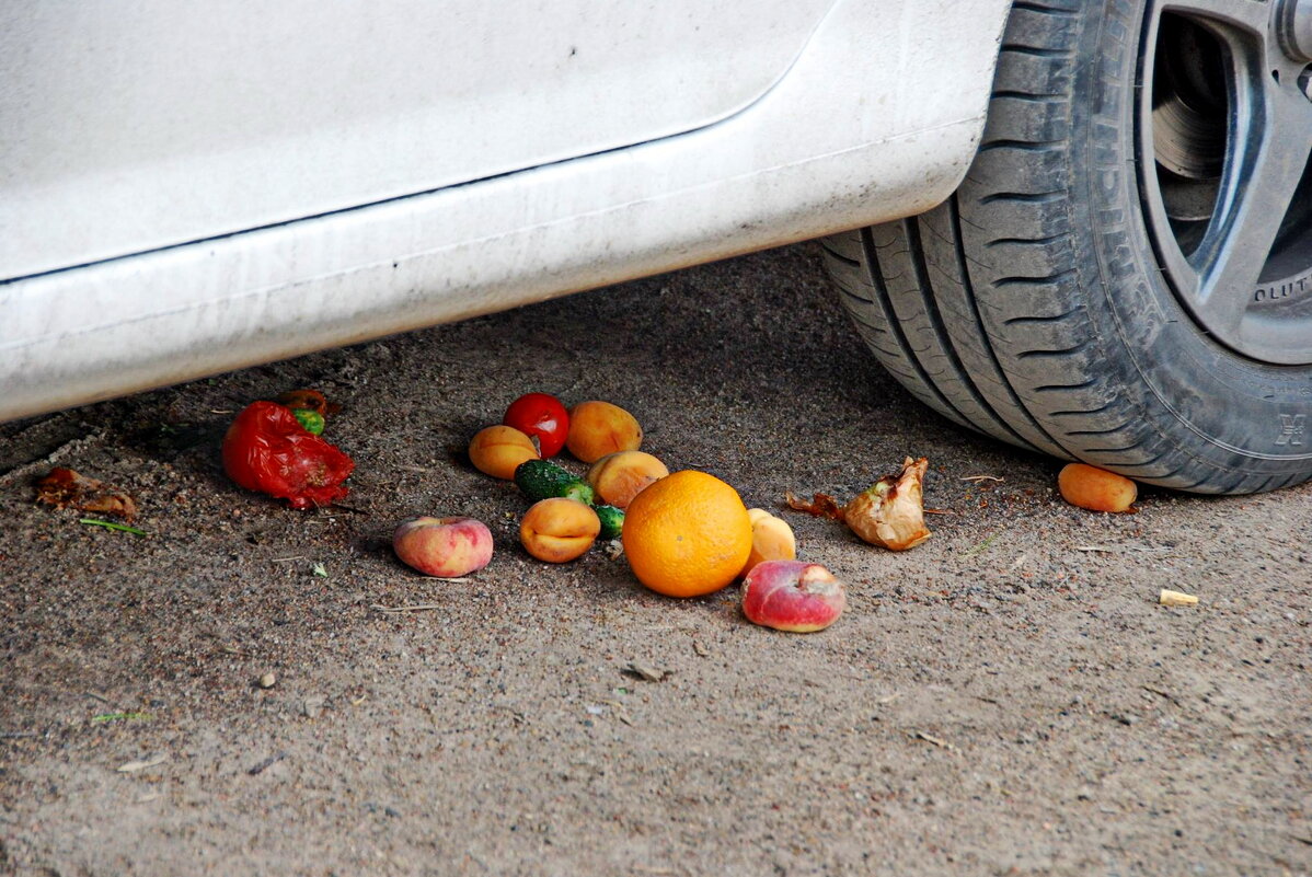
<path id="1" fill-rule="evenodd" d="M 1312 477 L 1312 0 L 1026 0 L 933 211 L 824 240 L 947 418 L 1140 481 Z"/>

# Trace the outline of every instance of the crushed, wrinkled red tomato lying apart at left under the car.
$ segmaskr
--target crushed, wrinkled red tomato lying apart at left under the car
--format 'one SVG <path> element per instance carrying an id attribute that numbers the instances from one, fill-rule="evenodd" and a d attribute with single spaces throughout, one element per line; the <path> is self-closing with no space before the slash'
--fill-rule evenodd
<path id="1" fill-rule="evenodd" d="M 327 506 L 346 496 L 356 461 L 311 435 L 277 402 L 252 402 L 223 437 L 223 468 L 247 490 L 289 499 L 293 509 Z"/>

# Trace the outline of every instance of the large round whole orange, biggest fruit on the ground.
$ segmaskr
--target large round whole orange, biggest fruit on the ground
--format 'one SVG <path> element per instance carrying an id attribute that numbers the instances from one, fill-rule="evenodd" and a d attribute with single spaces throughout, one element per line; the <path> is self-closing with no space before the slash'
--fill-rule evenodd
<path id="1" fill-rule="evenodd" d="M 621 539 L 643 585 L 666 596 L 701 596 L 743 569 L 752 553 L 752 519 L 737 490 L 685 469 L 634 497 Z"/>

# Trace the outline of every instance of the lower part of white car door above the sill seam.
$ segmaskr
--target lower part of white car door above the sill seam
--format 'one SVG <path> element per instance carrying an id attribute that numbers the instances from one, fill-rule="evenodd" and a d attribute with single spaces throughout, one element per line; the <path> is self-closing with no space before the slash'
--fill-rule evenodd
<path id="1" fill-rule="evenodd" d="M 832 3 L 4 3 L 0 278 L 702 127 Z"/>

